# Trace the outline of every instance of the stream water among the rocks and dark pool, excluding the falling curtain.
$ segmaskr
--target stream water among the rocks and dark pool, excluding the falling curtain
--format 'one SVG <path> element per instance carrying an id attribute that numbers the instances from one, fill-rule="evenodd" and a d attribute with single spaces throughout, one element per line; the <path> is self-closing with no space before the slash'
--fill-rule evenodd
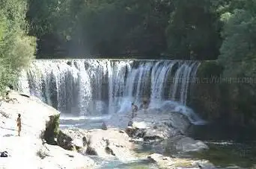
<path id="1" fill-rule="evenodd" d="M 110 115 L 94 117 L 61 117 L 61 128 L 78 127 L 82 129 L 101 128 L 103 121 L 108 121 Z M 210 150 L 201 153 L 164 152 L 162 144 L 136 144 L 135 152 L 138 154 L 162 153 L 165 156 L 181 158 L 207 159 L 217 168 L 252 168 L 256 165 L 256 135 L 254 130 L 248 128 L 225 127 L 218 124 L 193 125 L 187 133 L 192 138 L 204 141 Z M 147 159 L 128 164 L 118 160 L 103 161 L 97 156 L 91 156 L 102 168 L 110 169 L 151 169 L 156 165 Z"/>

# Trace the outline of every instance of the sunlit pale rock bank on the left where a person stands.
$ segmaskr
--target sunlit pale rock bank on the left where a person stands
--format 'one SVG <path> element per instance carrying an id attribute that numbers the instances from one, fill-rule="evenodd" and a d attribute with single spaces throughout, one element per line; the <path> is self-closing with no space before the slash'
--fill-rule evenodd
<path id="1" fill-rule="evenodd" d="M 18 114 L 21 136 L 16 131 Z M 89 157 L 45 143 L 55 133 L 52 119 L 59 114 L 37 98 L 10 92 L 0 107 L 0 152 L 7 152 L 0 157 L 0 168 L 95 168 Z"/>

